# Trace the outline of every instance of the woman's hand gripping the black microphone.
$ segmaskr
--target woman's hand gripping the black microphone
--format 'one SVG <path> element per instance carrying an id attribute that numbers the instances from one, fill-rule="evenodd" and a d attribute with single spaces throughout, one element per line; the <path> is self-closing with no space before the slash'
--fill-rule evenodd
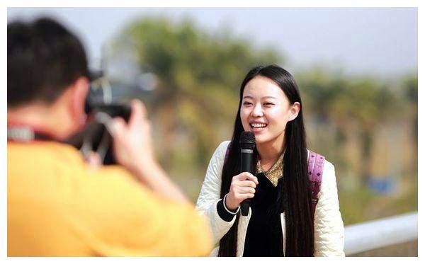
<path id="1" fill-rule="evenodd" d="M 226 197 L 227 209 L 235 211 L 243 200 L 254 197 L 257 184 L 259 184 L 259 180 L 249 172 L 234 176 Z"/>

